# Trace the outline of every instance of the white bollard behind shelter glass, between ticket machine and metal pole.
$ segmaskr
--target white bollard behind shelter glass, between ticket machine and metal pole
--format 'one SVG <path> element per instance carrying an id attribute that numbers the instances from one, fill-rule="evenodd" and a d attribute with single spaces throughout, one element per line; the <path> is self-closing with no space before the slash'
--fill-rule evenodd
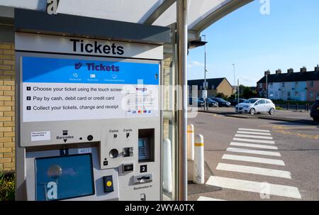
<path id="1" fill-rule="evenodd" d="M 167 192 L 172 192 L 172 144 L 171 140 L 164 139 L 164 171 L 163 171 L 163 188 Z"/>

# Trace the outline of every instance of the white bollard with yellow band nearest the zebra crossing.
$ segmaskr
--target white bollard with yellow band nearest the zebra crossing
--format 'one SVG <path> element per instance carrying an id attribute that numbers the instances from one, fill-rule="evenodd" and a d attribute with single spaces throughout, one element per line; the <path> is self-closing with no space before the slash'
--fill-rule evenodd
<path id="1" fill-rule="evenodd" d="M 194 143 L 194 167 L 193 167 L 193 182 L 196 184 L 204 183 L 204 155 L 203 155 L 203 136 L 196 135 Z"/>

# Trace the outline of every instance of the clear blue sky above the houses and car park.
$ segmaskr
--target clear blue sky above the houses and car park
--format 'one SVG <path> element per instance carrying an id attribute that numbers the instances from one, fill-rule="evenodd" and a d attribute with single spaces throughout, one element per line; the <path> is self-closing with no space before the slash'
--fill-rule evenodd
<path id="1" fill-rule="evenodd" d="M 255 0 L 201 35 L 208 41 L 206 78 L 226 77 L 234 84 L 235 64 L 236 82 L 256 87 L 266 70 L 299 72 L 306 66 L 313 71 L 319 64 L 319 1 Z M 203 77 L 204 49 L 199 47 L 189 51 L 188 79 Z"/>

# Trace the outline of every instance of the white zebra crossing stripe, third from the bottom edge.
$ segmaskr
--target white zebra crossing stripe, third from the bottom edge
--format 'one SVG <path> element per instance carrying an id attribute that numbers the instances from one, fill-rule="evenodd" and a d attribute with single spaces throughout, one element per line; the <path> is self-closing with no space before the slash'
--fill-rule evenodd
<path id="1" fill-rule="evenodd" d="M 261 167 L 250 167 L 244 165 L 233 165 L 227 163 L 218 163 L 216 170 L 224 170 L 231 172 L 242 172 L 255 175 L 267 175 L 272 177 L 284 177 L 291 179 L 291 173 L 284 170 L 273 170 Z"/>

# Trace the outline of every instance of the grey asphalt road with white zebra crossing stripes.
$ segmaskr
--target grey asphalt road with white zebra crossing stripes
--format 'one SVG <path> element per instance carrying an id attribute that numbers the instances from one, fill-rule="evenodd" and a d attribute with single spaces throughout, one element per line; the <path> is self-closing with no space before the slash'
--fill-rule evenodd
<path id="1" fill-rule="evenodd" d="M 206 182 L 190 181 L 189 161 L 189 200 L 319 200 L 319 126 L 208 113 L 189 123 L 204 136 Z"/>

